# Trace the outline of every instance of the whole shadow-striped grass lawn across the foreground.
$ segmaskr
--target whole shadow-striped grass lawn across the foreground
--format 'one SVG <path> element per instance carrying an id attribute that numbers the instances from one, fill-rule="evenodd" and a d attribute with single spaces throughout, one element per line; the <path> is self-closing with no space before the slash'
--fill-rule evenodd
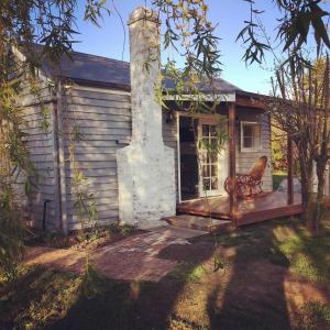
<path id="1" fill-rule="evenodd" d="M 298 220 L 169 245 L 160 283 L 22 267 L 0 279 L 0 329 L 330 329 L 330 226 Z M 215 268 L 219 268 L 215 272 Z"/>

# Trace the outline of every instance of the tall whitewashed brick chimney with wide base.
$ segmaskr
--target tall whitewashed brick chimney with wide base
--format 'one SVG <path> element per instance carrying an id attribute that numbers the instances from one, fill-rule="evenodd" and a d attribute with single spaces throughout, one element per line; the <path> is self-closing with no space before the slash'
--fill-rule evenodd
<path id="1" fill-rule="evenodd" d="M 162 108 L 154 90 L 161 70 L 157 14 L 140 7 L 129 29 L 132 140 L 117 152 L 119 216 L 123 223 L 148 228 L 175 215 L 174 150 L 163 143 Z"/>

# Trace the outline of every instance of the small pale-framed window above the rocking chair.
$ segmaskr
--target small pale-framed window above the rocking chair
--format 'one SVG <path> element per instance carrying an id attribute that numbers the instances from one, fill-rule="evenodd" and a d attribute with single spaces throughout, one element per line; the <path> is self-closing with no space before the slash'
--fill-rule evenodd
<path id="1" fill-rule="evenodd" d="M 241 151 L 261 150 L 261 127 L 257 122 L 241 121 Z"/>

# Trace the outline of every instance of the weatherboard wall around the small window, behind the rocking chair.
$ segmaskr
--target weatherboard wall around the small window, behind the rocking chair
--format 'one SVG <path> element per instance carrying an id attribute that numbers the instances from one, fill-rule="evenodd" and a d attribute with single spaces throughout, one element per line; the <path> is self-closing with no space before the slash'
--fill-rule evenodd
<path id="1" fill-rule="evenodd" d="M 260 111 L 258 111 L 260 112 Z M 271 148 L 271 123 L 267 116 L 257 114 L 250 109 L 239 109 L 238 110 L 239 121 L 255 121 L 261 122 L 261 140 L 262 148 L 257 152 L 242 152 L 241 151 L 241 132 L 238 129 L 237 135 L 237 172 L 249 173 L 254 162 L 265 155 L 268 157 L 270 167 L 266 168 L 265 175 L 263 177 L 263 189 L 265 191 L 273 190 L 273 169 L 272 169 L 272 148 Z"/>

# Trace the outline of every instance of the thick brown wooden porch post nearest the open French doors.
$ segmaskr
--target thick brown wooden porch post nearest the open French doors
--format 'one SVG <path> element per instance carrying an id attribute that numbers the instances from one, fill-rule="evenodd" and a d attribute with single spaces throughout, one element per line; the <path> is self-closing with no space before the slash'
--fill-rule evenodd
<path id="1" fill-rule="evenodd" d="M 237 108 L 235 103 L 229 105 L 229 122 L 228 122 L 228 135 L 229 135 L 229 178 L 230 178 L 230 189 L 229 189 L 229 205 L 230 205 L 230 219 L 234 220 L 237 223 L 237 211 L 238 211 L 238 196 L 237 196 Z"/>

